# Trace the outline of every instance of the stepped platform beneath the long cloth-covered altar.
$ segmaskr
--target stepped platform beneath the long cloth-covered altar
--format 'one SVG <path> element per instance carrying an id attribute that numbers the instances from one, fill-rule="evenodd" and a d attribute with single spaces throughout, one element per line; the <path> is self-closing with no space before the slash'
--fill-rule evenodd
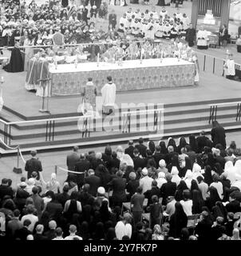
<path id="1" fill-rule="evenodd" d="M 208 104 L 241 101 L 241 83 L 203 72 L 200 74 L 200 84 L 195 87 L 176 89 L 140 90 L 117 94 L 117 105 L 132 103 L 133 106 L 122 109 L 136 111 L 140 109 L 135 104 L 156 105 L 163 108 L 161 126 L 156 130 L 154 126 L 154 111 L 146 119 L 146 114 L 140 113 L 136 127 L 136 116 L 130 118 L 128 129 L 120 130 L 123 120 L 118 113 L 111 118 L 112 122 L 105 124 L 103 118 L 94 121 L 90 132 L 82 134 L 78 122 L 80 114 L 77 108 L 81 103 L 80 96 L 49 98 L 50 114 L 41 114 L 41 98 L 24 89 L 25 73 L 3 74 L 6 83 L 3 90 L 4 108 L 0 118 L 5 122 L 19 122 L 11 125 L 7 144 L 11 147 L 20 146 L 22 151 L 30 149 L 53 150 L 69 148 L 73 145 L 95 146 L 106 143 L 126 142 L 130 138 L 140 136 L 148 139 L 179 137 L 180 135 L 199 134 L 200 130 L 209 132 L 208 122 L 210 106 Z M 14 81 L 18 81 L 18 86 Z M 217 120 L 226 130 L 239 130 L 241 122 L 236 122 L 237 106 L 219 106 Z M 53 118 L 58 119 L 54 122 Z M 49 121 L 52 120 L 49 130 Z M 121 120 L 121 122 L 120 122 Z M 151 127 L 147 128 L 148 125 Z M 48 126 L 47 126 L 48 122 Z M 128 126 L 127 126 L 128 127 Z M 92 129 L 93 128 L 93 129 Z M 54 129 L 54 133 L 53 133 Z M 0 136 L 3 139 L 5 130 L 0 123 Z M 9 150 L 2 144 L 0 153 L 11 154 L 16 150 Z"/>

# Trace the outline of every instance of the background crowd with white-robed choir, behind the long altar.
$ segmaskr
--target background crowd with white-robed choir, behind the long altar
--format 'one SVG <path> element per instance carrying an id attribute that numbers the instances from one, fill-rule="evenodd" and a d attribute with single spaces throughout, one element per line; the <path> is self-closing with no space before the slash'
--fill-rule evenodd
<path id="1" fill-rule="evenodd" d="M 16 41 L 20 46 L 53 45 L 56 33 L 63 34 L 65 44 L 115 42 L 126 37 L 136 40 L 179 37 L 187 38 L 188 42 L 191 40 L 192 46 L 196 35 L 186 14 L 177 8 L 172 16 L 165 6 L 160 13 L 155 6 L 144 12 L 130 7 L 120 21 L 117 21 L 114 10 L 108 10 L 109 3 L 101 1 L 70 0 L 68 6 L 59 1 L 41 6 L 34 0 L 29 5 L 26 2 L 2 1 L 0 8 L 1 46 L 14 46 Z M 100 19 L 109 20 L 108 28 L 97 26 Z"/>

